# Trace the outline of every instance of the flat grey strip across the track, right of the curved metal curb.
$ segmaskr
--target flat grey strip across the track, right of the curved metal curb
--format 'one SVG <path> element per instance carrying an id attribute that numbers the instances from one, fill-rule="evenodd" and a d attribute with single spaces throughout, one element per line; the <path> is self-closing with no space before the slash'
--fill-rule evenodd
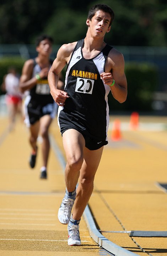
<path id="1" fill-rule="evenodd" d="M 131 231 L 130 236 L 138 237 L 167 237 L 167 231 Z"/>

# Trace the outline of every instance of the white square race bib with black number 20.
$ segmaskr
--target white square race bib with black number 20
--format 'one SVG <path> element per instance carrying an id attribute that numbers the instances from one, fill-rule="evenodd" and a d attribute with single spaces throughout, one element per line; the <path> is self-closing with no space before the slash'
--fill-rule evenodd
<path id="1" fill-rule="evenodd" d="M 77 78 L 75 91 L 80 93 L 92 94 L 94 80 Z"/>

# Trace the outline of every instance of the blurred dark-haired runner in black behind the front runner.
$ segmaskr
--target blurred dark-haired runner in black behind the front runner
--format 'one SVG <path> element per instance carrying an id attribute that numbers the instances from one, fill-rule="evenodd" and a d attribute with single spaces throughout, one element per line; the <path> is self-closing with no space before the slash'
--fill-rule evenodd
<path id="1" fill-rule="evenodd" d="M 25 62 L 20 78 L 21 92 L 29 91 L 25 99 L 26 124 L 29 126 L 29 142 L 32 153 L 29 159 L 31 168 L 35 167 L 37 157 L 37 138 L 40 132 L 42 137 L 42 158 L 40 178 L 47 178 L 47 164 L 50 150 L 48 130 L 56 114 L 56 104 L 50 95 L 48 85 L 48 71 L 52 66 L 50 54 L 52 52 L 53 39 L 42 35 L 37 38 L 36 50 L 38 56 Z M 63 82 L 58 81 L 58 86 Z"/>

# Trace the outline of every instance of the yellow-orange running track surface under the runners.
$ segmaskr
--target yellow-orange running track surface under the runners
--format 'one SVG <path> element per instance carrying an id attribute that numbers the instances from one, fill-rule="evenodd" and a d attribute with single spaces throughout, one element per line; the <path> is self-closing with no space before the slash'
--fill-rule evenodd
<path id="1" fill-rule="evenodd" d="M 90 209 L 102 234 L 113 243 L 141 256 L 167 256 L 167 238 L 127 233 L 167 231 L 167 193 L 157 185 L 167 183 L 167 118 L 141 118 L 144 129 L 139 125 L 137 130 L 127 128 L 130 117 L 117 118 L 126 128 L 121 127 L 122 139 L 114 142 L 112 123 L 109 127 L 109 143 L 95 177 Z M 157 126 L 163 129 L 150 128 Z M 40 139 L 36 167 L 30 169 L 28 129 L 20 119 L 13 131 L 8 132 L 7 127 L 8 120 L 1 117 L 0 255 L 111 255 L 92 240 L 84 218 L 80 223 L 82 246 L 67 245 L 67 226 L 57 219 L 65 193 L 59 158 L 51 148 L 48 179 L 40 180 Z M 56 120 L 50 134 L 64 155 Z"/>

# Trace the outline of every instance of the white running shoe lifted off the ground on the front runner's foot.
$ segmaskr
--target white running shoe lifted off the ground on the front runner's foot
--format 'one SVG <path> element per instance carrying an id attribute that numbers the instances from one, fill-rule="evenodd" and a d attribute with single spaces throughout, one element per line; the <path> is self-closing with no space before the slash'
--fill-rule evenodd
<path id="1" fill-rule="evenodd" d="M 63 201 L 60 205 L 59 211 L 58 211 L 58 219 L 59 222 L 62 224 L 68 224 L 71 217 L 71 210 L 72 206 L 74 204 L 75 199 L 65 197 L 63 198 Z"/>

